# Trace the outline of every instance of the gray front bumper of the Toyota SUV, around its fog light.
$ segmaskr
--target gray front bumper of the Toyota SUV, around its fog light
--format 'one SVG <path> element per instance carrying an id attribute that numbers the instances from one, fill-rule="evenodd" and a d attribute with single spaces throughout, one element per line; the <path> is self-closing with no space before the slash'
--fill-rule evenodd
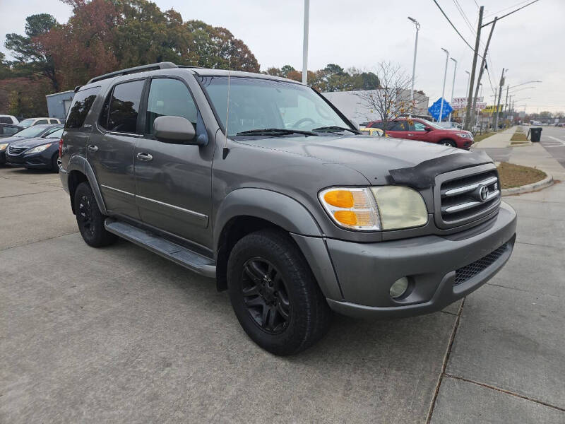
<path id="1" fill-rule="evenodd" d="M 342 300 L 328 298 L 328 304 L 352 317 L 441 310 L 489 281 L 509 259 L 515 240 L 516 212 L 504 202 L 495 218 L 456 234 L 379 243 L 328 239 L 343 293 Z M 408 290 L 393 299 L 391 285 L 402 277 L 410 281 Z"/>

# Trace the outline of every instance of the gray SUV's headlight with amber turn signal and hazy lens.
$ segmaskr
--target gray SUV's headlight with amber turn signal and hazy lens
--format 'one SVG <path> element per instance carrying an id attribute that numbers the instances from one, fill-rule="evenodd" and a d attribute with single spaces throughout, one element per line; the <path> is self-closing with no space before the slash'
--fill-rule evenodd
<path id="1" fill-rule="evenodd" d="M 332 220 L 350 230 L 420 227 L 428 220 L 424 199 L 409 187 L 333 187 L 321 191 L 319 199 Z"/>

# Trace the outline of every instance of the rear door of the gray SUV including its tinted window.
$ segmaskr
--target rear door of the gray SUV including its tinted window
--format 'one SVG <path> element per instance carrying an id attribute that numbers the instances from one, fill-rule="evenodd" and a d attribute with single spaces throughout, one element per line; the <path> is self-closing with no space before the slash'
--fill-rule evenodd
<path id="1" fill-rule="evenodd" d="M 107 94 L 88 141 L 87 158 L 93 167 L 108 211 L 139 219 L 133 150 L 141 137 L 138 117 L 145 78 L 117 83 Z"/>

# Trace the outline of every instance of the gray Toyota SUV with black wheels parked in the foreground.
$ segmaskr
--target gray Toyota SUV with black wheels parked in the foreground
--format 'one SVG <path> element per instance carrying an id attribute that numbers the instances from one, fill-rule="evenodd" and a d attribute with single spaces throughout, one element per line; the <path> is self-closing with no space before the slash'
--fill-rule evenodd
<path id="1" fill-rule="evenodd" d="M 284 78 L 168 62 L 76 88 L 61 181 L 88 245 L 123 237 L 228 290 L 277 355 L 331 311 L 441 310 L 509 259 L 516 213 L 486 155 L 362 136 Z"/>

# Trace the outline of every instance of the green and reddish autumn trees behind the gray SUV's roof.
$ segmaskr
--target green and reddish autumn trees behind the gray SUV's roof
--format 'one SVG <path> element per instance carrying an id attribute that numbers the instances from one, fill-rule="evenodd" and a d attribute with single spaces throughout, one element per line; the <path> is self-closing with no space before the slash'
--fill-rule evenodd
<path id="1" fill-rule="evenodd" d="M 6 35 L 6 48 L 16 60 L 1 63 L 0 98 L 11 95 L 6 92 L 10 86 L 17 86 L 23 98 L 38 98 L 28 91 L 45 84 L 51 93 L 71 90 L 102 73 L 159 61 L 259 71 L 249 47 L 229 30 L 201 20 L 184 21 L 173 9 L 161 11 L 147 0 L 62 1 L 73 8 L 67 23 L 42 13 L 27 18 L 25 36 Z M 43 98 L 43 110 L 45 106 Z M 1 103 L 0 113 L 5 109 Z M 9 112 L 27 114 L 13 106 Z"/>

